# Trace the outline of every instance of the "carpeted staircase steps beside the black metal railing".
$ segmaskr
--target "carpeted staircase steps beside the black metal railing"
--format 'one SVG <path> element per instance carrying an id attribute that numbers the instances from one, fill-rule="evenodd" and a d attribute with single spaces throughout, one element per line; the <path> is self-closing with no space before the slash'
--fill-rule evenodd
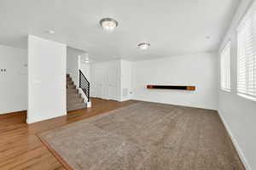
<path id="1" fill-rule="evenodd" d="M 82 94 L 74 85 L 72 78 L 67 74 L 67 111 L 75 111 L 86 108 Z"/>

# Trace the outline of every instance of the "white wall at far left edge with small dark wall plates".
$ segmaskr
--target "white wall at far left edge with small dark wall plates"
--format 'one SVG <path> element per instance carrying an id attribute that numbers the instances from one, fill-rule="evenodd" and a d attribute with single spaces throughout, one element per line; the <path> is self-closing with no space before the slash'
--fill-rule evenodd
<path id="1" fill-rule="evenodd" d="M 0 45 L 0 114 L 27 106 L 26 49 Z"/>

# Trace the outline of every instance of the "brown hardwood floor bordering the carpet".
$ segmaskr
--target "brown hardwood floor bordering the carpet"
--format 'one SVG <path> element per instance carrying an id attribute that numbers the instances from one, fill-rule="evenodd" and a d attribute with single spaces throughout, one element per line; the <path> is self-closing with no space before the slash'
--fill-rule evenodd
<path id="1" fill-rule="evenodd" d="M 0 169 L 65 169 L 38 139 L 37 133 L 78 122 L 137 101 L 92 99 L 92 108 L 71 111 L 43 122 L 26 124 L 26 111 L 0 115 Z"/>

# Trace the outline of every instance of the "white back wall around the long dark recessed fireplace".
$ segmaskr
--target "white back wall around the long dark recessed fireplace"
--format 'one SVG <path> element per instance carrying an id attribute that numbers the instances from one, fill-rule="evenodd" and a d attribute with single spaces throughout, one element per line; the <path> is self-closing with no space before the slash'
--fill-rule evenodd
<path id="1" fill-rule="evenodd" d="M 191 85 L 195 91 L 147 89 L 148 84 Z M 132 68 L 133 99 L 217 110 L 218 54 L 138 61 Z"/>

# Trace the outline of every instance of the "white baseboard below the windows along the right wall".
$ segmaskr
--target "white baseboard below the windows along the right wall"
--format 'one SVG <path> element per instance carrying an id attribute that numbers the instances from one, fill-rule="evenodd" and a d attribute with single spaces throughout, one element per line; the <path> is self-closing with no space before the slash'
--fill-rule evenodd
<path id="1" fill-rule="evenodd" d="M 244 156 L 244 154 L 243 154 L 243 152 L 242 152 L 242 150 L 241 150 L 241 147 L 240 147 L 239 144 L 237 143 L 237 140 L 236 140 L 235 136 L 233 135 L 233 133 L 231 132 L 228 123 L 225 121 L 224 116 L 220 113 L 220 111 L 218 111 L 218 115 L 220 116 L 221 121 L 224 123 L 224 126 L 225 126 L 226 129 L 227 129 L 227 131 L 228 131 L 228 133 L 229 133 L 229 135 L 230 135 L 230 139 L 232 140 L 232 143 L 234 144 L 235 149 L 236 149 L 236 151 L 237 151 L 237 153 L 238 153 L 238 156 L 240 157 L 240 159 L 241 159 L 241 161 L 242 161 L 244 167 L 246 168 L 246 170 L 253 170 L 253 169 L 250 167 L 250 165 L 248 164 L 247 159 L 246 159 L 246 156 Z"/>

